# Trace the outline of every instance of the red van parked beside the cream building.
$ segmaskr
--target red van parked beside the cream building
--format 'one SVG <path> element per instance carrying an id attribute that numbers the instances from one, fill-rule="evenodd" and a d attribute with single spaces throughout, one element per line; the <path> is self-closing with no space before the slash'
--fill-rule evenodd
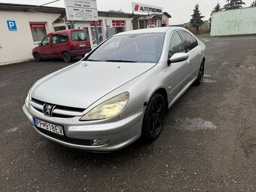
<path id="1" fill-rule="evenodd" d="M 83 29 L 69 29 L 50 32 L 32 50 L 37 61 L 49 58 L 63 58 L 70 62 L 74 56 L 84 56 L 91 50 L 90 40 Z"/>

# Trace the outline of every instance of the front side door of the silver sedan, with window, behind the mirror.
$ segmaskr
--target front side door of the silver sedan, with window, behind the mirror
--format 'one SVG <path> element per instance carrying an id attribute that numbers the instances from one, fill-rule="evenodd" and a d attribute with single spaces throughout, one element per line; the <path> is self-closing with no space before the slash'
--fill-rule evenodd
<path id="1" fill-rule="evenodd" d="M 185 53 L 187 50 L 181 41 L 178 32 L 172 32 L 168 59 L 175 53 Z M 174 62 L 168 67 L 169 76 L 169 102 L 180 92 L 180 90 L 187 84 L 190 77 L 190 63 L 185 61 Z"/>

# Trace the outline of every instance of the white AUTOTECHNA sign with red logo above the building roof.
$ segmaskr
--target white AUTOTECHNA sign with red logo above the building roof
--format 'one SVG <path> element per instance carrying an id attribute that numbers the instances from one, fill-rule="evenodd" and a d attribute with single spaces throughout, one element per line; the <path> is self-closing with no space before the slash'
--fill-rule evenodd
<path id="1" fill-rule="evenodd" d="M 153 6 L 153 5 L 145 5 L 141 3 L 133 2 L 133 12 L 140 13 L 148 13 L 148 14 L 163 14 L 163 8 Z"/>

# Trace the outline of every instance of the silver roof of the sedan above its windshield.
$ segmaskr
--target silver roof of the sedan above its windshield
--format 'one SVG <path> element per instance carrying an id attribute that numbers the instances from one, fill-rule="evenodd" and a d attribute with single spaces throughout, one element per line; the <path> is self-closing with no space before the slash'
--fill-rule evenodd
<path id="1" fill-rule="evenodd" d="M 184 28 L 183 27 L 167 26 L 167 27 L 156 27 L 156 28 L 148 28 L 148 29 L 136 29 L 133 31 L 120 32 L 114 36 L 133 35 L 133 34 L 142 34 L 142 33 L 166 33 L 169 30 L 174 31 L 174 30 L 178 30 L 178 29 L 184 29 Z"/>

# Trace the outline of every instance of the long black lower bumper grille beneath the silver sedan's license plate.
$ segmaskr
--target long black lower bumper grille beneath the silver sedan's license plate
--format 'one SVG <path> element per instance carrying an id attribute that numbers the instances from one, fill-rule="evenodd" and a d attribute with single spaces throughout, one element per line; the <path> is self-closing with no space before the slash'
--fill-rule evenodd
<path id="1" fill-rule="evenodd" d="M 50 131 L 43 130 L 38 127 L 35 127 L 35 129 L 38 130 L 40 133 L 43 133 L 46 136 L 50 136 L 51 138 L 58 139 L 62 142 L 67 142 L 67 143 L 71 143 L 71 144 L 75 144 L 75 145 L 87 145 L 87 146 L 90 146 L 93 144 L 92 139 L 73 139 L 73 138 L 69 138 L 67 136 L 60 136 L 56 133 L 51 133 Z"/>

